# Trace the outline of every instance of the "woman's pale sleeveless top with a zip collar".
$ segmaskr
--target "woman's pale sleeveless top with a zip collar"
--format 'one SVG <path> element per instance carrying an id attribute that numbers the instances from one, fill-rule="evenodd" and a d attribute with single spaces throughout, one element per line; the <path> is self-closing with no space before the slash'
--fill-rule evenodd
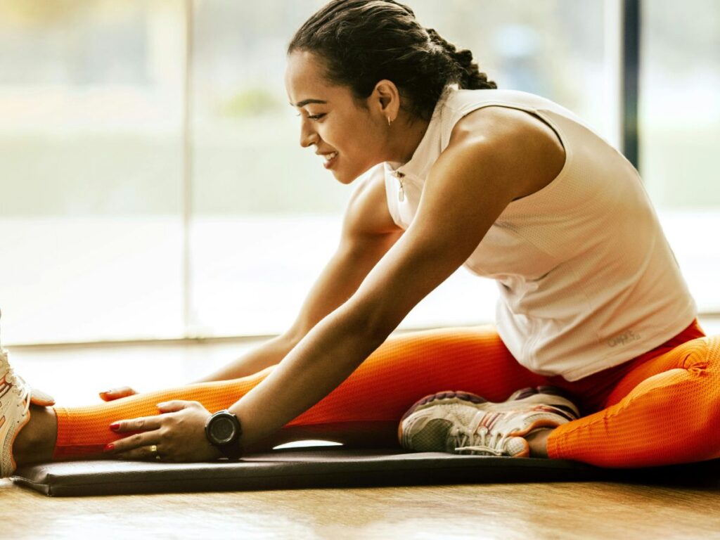
<path id="1" fill-rule="evenodd" d="M 449 87 L 405 164 L 381 163 L 387 205 L 413 222 L 428 171 L 464 115 L 500 106 L 536 115 L 565 149 L 558 176 L 511 202 L 464 266 L 500 289 L 500 338 L 531 371 L 575 381 L 680 333 L 696 305 L 629 161 L 575 114 L 519 91 Z M 395 172 L 400 171 L 400 181 Z M 402 200 L 401 200 L 402 199 Z"/>

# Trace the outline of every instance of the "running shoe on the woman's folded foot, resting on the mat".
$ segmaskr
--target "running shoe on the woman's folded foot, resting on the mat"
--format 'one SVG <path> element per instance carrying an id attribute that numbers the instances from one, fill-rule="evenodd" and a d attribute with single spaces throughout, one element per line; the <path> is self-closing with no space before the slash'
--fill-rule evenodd
<path id="1" fill-rule="evenodd" d="M 468 392 L 440 392 L 410 407 L 397 435 L 403 448 L 418 452 L 528 457 L 524 437 L 577 418 L 577 407 L 557 387 L 523 388 L 502 403 Z"/>

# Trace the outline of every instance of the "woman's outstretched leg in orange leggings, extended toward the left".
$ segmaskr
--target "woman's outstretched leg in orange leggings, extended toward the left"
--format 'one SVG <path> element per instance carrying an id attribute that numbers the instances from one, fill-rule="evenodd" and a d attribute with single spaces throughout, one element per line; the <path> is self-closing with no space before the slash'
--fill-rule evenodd
<path id="1" fill-rule="evenodd" d="M 156 415 L 158 402 L 194 400 L 211 412 L 228 408 L 259 384 L 271 369 L 242 379 L 147 392 L 89 407 L 56 407 L 53 459 L 102 454 L 105 444 L 121 438 L 110 431 L 110 423 Z M 518 388 L 547 382 L 548 379 L 513 359 L 493 327 L 447 328 L 391 336 L 343 384 L 292 420 L 265 446 L 312 436 L 346 443 L 394 443 L 402 414 L 424 395 L 463 390 L 487 400 L 502 401 Z"/>

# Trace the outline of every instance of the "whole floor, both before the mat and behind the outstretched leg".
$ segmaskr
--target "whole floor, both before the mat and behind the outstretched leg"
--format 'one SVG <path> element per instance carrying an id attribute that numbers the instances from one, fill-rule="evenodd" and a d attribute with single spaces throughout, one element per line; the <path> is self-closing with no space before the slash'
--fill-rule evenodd
<path id="1" fill-rule="evenodd" d="M 720 333 L 713 322 L 705 327 Z M 11 348 L 11 357 L 32 384 L 58 402 L 78 404 L 97 401 L 96 392 L 119 384 L 151 390 L 190 382 L 247 346 Z M 0 538 L 13 539 L 720 539 L 719 509 L 720 481 L 707 487 L 585 482 L 49 498 L 0 480 Z"/>

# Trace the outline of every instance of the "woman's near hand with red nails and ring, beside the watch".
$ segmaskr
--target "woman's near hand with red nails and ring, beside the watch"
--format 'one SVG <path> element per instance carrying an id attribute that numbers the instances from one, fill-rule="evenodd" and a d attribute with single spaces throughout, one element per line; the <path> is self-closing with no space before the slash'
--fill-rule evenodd
<path id="1" fill-rule="evenodd" d="M 210 411 L 197 401 L 158 403 L 161 414 L 119 420 L 115 433 L 134 433 L 108 444 L 105 453 L 118 459 L 157 459 L 162 462 L 207 462 L 222 456 L 205 436 Z M 156 446 L 153 452 L 152 446 Z"/>

